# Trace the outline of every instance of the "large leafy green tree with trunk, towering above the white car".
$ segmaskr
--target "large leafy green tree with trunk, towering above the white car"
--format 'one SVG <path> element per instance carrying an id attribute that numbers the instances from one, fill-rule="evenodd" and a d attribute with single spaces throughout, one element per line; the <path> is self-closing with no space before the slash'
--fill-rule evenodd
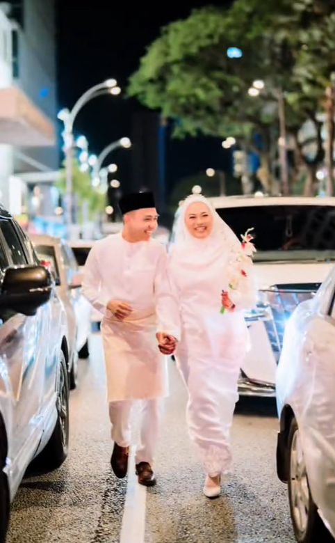
<path id="1" fill-rule="evenodd" d="M 271 189 L 279 91 L 284 91 L 286 124 L 296 141 L 302 123 L 316 118 L 318 109 L 318 98 L 309 99 L 292 78 L 297 47 L 276 22 L 291 12 L 288 0 L 236 0 L 229 10 L 193 11 L 166 26 L 147 49 L 129 81 L 129 95 L 177 120 L 174 136 L 202 132 L 243 140 L 260 155 L 265 189 Z M 236 44 L 242 58 L 228 58 L 227 48 Z M 256 98 L 248 94 L 254 79 L 265 81 Z M 261 135 L 256 148 L 255 134 Z M 300 159 L 304 162 L 303 153 Z"/>

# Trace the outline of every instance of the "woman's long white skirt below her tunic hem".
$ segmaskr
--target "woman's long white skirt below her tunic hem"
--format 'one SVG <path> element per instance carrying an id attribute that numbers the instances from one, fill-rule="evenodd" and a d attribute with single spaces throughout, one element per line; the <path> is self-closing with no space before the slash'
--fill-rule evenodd
<path id="1" fill-rule="evenodd" d="M 177 356 L 188 390 L 186 421 L 204 471 L 211 477 L 231 469 L 230 430 L 238 400 L 240 357 L 236 360 Z"/>

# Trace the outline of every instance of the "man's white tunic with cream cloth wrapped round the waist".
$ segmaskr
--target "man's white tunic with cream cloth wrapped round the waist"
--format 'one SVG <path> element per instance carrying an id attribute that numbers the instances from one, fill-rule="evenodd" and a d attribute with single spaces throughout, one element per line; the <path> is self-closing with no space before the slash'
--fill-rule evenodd
<path id="1" fill-rule="evenodd" d="M 179 339 L 179 310 L 170 289 L 163 245 L 129 243 L 122 234 L 93 245 L 85 264 L 83 294 L 104 318 L 108 402 L 160 398 L 168 395 L 165 356 L 156 331 Z M 133 313 L 120 322 L 106 308 L 108 301 L 127 302 Z"/>

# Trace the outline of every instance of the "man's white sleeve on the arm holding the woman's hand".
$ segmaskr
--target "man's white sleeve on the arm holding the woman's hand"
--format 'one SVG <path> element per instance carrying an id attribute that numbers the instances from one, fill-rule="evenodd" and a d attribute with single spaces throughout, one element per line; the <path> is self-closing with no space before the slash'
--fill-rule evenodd
<path id="1" fill-rule="evenodd" d="M 162 246 L 154 280 L 158 332 L 166 332 L 177 340 L 181 338 L 181 319 L 177 289 L 169 274 L 168 255 Z"/>

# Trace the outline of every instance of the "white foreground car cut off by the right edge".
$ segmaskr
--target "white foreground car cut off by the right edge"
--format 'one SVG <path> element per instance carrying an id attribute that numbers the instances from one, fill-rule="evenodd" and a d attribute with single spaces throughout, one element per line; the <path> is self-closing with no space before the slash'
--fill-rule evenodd
<path id="1" fill-rule="evenodd" d="M 335 269 L 286 324 L 277 369 L 277 473 L 298 543 L 335 537 Z M 325 528 L 326 527 L 326 528 Z"/>

